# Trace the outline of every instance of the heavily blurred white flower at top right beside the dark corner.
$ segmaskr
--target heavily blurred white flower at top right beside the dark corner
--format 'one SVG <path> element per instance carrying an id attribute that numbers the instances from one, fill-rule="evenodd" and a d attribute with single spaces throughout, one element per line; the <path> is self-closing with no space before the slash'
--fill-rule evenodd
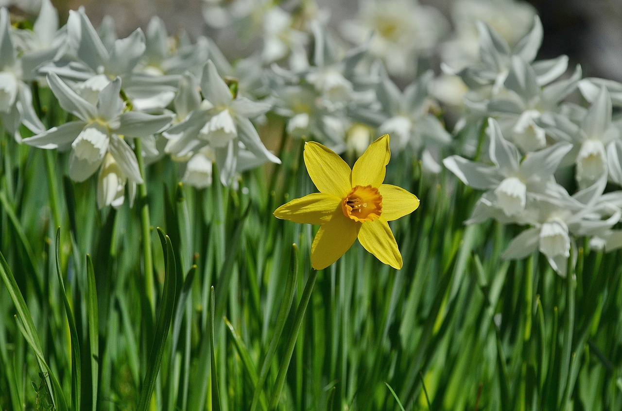
<path id="1" fill-rule="evenodd" d="M 492 27 L 513 47 L 529 32 L 536 16 L 536 9 L 524 1 L 457 0 L 451 4 L 454 32 L 441 51 L 443 61 L 458 70 L 478 61 L 478 21 Z"/>

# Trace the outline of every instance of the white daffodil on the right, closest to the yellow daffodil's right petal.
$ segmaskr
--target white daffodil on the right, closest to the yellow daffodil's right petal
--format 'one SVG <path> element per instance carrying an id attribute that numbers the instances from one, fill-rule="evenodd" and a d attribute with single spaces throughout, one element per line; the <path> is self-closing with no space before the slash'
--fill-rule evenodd
<path id="1" fill-rule="evenodd" d="M 486 206 L 500 209 L 506 217 L 521 217 L 528 201 L 539 197 L 558 197 L 560 192 L 565 192 L 555 183 L 553 173 L 572 145 L 560 142 L 544 150 L 527 153 L 521 161 L 519 151 L 503 138 L 495 120 L 488 119 L 486 133 L 490 138 L 488 155 L 494 165 L 475 163 L 457 155 L 443 160 L 445 167 L 467 186 L 486 190 L 481 199 Z M 485 211 L 484 207 L 476 207 L 470 222 L 495 217 L 494 210 Z"/>

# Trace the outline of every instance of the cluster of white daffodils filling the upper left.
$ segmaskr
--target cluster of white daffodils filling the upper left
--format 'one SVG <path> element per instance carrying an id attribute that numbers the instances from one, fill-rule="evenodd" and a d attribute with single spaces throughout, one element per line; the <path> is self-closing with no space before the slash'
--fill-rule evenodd
<path id="1" fill-rule="evenodd" d="M 169 38 L 157 18 L 146 34 L 137 29 L 117 38 L 111 20 L 95 30 L 82 9 L 70 11 L 59 29 L 49 0 L 42 1 L 33 30 L 12 27 L 7 9 L 0 9 L 2 127 L 18 142 L 70 150 L 74 181 L 99 170 L 100 207 L 121 206 L 126 186 L 133 201 L 144 179 L 137 154 L 149 161 L 169 153 L 187 163 L 183 180 L 199 187 L 211 183 L 213 161 L 223 184 L 264 161 L 280 162 L 251 122 L 270 104 L 242 96 L 246 84 L 228 85 L 222 76 L 230 74 L 211 40 L 192 43 L 183 33 Z M 46 127 L 33 106 L 38 84 L 47 84 L 75 120 Z M 34 135 L 22 140 L 21 124 Z M 140 153 L 132 150 L 135 139 Z"/>

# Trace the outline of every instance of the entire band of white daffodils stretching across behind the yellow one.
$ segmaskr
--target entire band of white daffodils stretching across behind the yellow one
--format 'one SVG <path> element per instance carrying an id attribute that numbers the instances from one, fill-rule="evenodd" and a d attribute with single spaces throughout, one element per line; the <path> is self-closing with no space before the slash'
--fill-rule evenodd
<path id="1" fill-rule="evenodd" d="M 110 19 L 96 30 L 83 10 L 59 27 L 49 0 L 32 30 L 12 27 L 2 8 L 2 127 L 22 141 L 24 125 L 34 133 L 24 143 L 71 150 L 75 181 L 99 170 L 100 207 L 120 206 L 126 187 L 132 198 L 142 183 L 134 141 L 147 161 L 167 154 L 182 163 L 185 183 L 205 187 L 213 163 L 223 184 L 279 163 L 256 124 L 350 156 L 389 133 L 393 152 L 411 152 L 433 173 L 443 163 L 485 191 L 469 223 L 527 227 L 508 258 L 540 250 L 563 275 L 579 237 L 622 246 L 622 122 L 613 116 L 622 84 L 583 79 L 578 66 L 568 74 L 566 56 L 537 60 L 543 29 L 531 6 L 457 0 L 450 32 L 434 7 L 364 0 L 338 25 L 340 40 L 325 10 L 292 3 L 204 0 L 208 26 L 239 34 L 221 43 L 259 40 L 256 53 L 233 64 L 210 38 L 169 37 L 157 17 L 145 33 L 118 38 Z M 72 121 L 44 125 L 50 119 L 33 106 L 37 84 L 49 85 Z M 461 136 L 484 129 L 475 161 L 476 138 L 462 142 L 462 156 L 440 161 Z"/>

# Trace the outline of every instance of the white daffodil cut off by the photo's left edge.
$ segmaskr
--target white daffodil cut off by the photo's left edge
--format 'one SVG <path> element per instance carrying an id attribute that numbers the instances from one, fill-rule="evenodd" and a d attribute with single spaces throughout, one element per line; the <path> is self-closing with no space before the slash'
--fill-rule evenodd
<path id="1" fill-rule="evenodd" d="M 9 12 L 0 8 L 0 122 L 7 133 L 21 141 L 21 124 L 34 132 L 45 130 L 32 107 L 32 93 L 22 80 L 22 61 L 17 56 Z"/>

